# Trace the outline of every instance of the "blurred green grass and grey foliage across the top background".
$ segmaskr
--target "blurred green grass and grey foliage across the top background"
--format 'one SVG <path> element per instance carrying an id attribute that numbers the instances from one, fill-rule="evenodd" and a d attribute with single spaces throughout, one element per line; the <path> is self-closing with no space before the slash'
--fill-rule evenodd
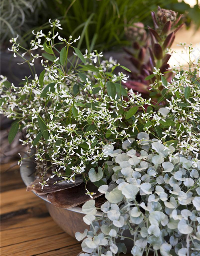
<path id="1" fill-rule="evenodd" d="M 150 11 L 155 11 L 158 5 L 184 14 L 187 26 L 194 22 L 196 28 L 200 27 L 198 4 L 190 8 L 189 4 L 177 0 L 1 0 L 1 43 L 7 44 L 16 34 L 24 42 L 29 41 L 32 29 L 45 29 L 49 18 L 58 18 L 63 27 L 62 36 L 81 35 L 78 48 L 92 50 L 95 46 L 110 50 L 129 44 L 124 27 L 133 22 L 151 25 Z"/>

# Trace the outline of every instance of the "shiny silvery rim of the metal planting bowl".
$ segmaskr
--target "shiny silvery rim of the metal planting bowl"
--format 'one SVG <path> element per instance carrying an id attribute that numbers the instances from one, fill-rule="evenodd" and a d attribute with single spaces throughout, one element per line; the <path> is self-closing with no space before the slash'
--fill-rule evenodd
<path id="1" fill-rule="evenodd" d="M 23 182 L 26 186 L 30 185 L 30 183 L 33 182 L 34 179 L 35 179 L 34 178 L 34 173 L 33 173 L 33 168 L 34 168 L 34 165 L 33 165 L 32 158 L 27 159 L 26 162 L 23 162 L 22 165 L 20 166 L 20 175 L 21 175 L 22 180 L 23 180 Z M 49 204 L 52 204 L 51 202 L 49 202 L 47 200 L 47 195 L 38 195 L 35 192 L 33 192 L 33 193 L 36 196 L 38 196 L 39 198 L 41 198 L 42 200 L 48 202 Z M 52 205 L 54 205 L 54 204 L 52 204 Z M 72 211 L 72 212 L 78 212 L 78 213 L 81 213 L 81 214 L 85 215 L 85 213 L 82 212 L 82 209 L 80 207 L 77 207 L 77 206 L 74 206 L 72 208 L 63 208 L 63 209 L 68 210 L 68 211 Z M 102 212 L 98 211 L 95 214 L 95 216 L 102 216 L 102 214 L 103 214 Z"/>

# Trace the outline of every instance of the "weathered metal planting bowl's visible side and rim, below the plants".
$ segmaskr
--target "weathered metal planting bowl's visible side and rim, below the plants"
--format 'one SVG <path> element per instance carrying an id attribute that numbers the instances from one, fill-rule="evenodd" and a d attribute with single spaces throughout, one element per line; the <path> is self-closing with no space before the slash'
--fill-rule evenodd
<path id="1" fill-rule="evenodd" d="M 31 158 L 26 160 L 26 162 L 24 161 L 20 167 L 20 174 L 26 186 L 30 185 L 30 183 L 35 179 L 34 168 L 35 165 L 33 164 Z M 79 231 L 83 233 L 85 229 L 89 229 L 89 226 L 83 221 L 85 214 L 82 212 L 80 207 L 75 206 L 68 209 L 58 208 L 47 200 L 47 195 L 36 194 L 36 196 L 44 200 L 52 219 L 70 236 L 75 237 L 76 232 Z M 96 216 L 102 216 L 102 212 L 97 212 Z M 128 230 L 127 232 L 125 231 L 124 236 L 130 236 L 130 232 Z M 130 239 L 125 239 L 124 241 L 119 240 L 118 242 L 124 242 L 128 251 L 130 252 L 133 246 Z"/>

